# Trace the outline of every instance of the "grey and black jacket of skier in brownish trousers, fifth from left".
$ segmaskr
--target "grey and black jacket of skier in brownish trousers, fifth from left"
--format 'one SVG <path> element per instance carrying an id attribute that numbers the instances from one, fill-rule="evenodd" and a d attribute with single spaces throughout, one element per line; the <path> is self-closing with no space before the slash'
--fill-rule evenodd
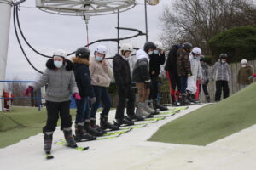
<path id="1" fill-rule="evenodd" d="M 149 63 L 148 59 L 138 59 L 132 72 L 132 80 L 134 82 L 145 82 L 149 80 Z"/>

